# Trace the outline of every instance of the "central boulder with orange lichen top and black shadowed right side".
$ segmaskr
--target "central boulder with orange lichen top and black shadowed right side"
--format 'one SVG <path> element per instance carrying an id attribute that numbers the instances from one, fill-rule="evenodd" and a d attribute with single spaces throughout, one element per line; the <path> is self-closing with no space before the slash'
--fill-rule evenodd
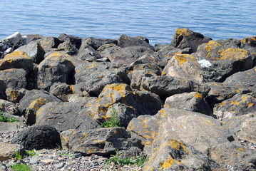
<path id="1" fill-rule="evenodd" d="M 111 118 L 107 112 L 115 103 L 124 104 L 126 108 L 130 107 L 136 116 L 155 115 L 161 108 L 158 95 L 132 90 L 127 84 L 110 84 L 103 89 L 97 100 L 88 103 L 87 110 L 94 119 L 103 123 Z M 121 124 L 126 125 L 131 119 L 130 116 L 131 113 L 127 116 L 125 123 Z"/>

